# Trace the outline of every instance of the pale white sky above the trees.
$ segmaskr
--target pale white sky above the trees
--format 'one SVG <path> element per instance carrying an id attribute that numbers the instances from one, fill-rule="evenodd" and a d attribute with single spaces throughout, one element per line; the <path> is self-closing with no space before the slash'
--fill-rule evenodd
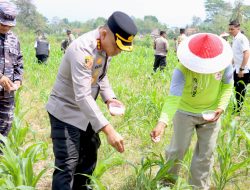
<path id="1" fill-rule="evenodd" d="M 123 11 L 135 18 L 156 16 L 170 27 L 185 27 L 192 17 L 205 19 L 205 0 L 33 0 L 37 11 L 49 20 L 53 17 L 85 22 L 97 17 L 108 18 L 114 11 Z M 227 0 L 233 3 L 233 0 Z M 244 4 L 250 5 L 250 0 Z"/>

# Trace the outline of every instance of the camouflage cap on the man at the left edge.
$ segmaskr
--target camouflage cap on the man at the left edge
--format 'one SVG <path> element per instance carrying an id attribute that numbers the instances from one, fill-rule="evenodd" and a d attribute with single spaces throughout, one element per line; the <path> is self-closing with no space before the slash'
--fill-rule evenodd
<path id="1" fill-rule="evenodd" d="M 16 6 L 9 1 L 0 1 L 0 23 L 7 26 L 16 25 Z"/>

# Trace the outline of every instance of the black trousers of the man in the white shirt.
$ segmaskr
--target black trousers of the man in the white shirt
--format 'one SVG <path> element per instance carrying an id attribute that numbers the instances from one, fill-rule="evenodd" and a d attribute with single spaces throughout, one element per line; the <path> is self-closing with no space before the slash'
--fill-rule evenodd
<path id="1" fill-rule="evenodd" d="M 235 98 L 237 100 L 237 107 L 235 105 L 234 111 L 240 112 L 243 106 L 244 98 L 246 95 L 246 87 L 249 83 L 250 73 L 245 73 L 244 77 L 239 78 L 238 74 L 234 72 L 234 87 L 235 87 Z"/>

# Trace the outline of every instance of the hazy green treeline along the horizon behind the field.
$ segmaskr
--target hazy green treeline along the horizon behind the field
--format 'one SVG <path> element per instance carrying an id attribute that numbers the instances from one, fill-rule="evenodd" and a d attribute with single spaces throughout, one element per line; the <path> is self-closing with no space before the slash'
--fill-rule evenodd
<path id="1" fill-rule="evenodd" d="M 70 22 L 67 18 L 54 17 L 50 22 L 37 11 L 32 0 L 12 0 L 18 9 L 18 30 L 41 30 L 48 34 L 63 34 L 65 29 L 71 29 L 75 34 L 82 34 L 106 23 L 106 19 L 98 17 L 86 22 Z M 227 31 L 228 23 L 237 19 L 242 25 L 245 34 L 250 37 L 250 6 L 244 4 L 244 0 L 236 0 L 233 4 L 224 0 L 204 1 L 206 19 L 193 16 L 192 23 L 186 28 L 194 32 L 212 32 L 220 34 Z M 155 29 L 166 30 L 169 38 L 174 38 L 179 33 L 179 28 L 169 28 L 167 23 L 160 23 L 153 15 L 144 16 L 143 19 L 133 17 L 140 34 L 149 34 Z"/>

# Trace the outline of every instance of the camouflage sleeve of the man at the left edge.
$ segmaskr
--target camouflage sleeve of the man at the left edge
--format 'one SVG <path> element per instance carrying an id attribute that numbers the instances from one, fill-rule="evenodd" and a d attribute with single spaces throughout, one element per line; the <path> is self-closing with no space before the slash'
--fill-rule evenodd
<path id="1" fill-rule="evenodd" d="M 20 50 L 20 43 L 18 42 L 18 55 L 16 64 L 14 64 L 14 81 L 23 80 L 23 55 Z"/>

